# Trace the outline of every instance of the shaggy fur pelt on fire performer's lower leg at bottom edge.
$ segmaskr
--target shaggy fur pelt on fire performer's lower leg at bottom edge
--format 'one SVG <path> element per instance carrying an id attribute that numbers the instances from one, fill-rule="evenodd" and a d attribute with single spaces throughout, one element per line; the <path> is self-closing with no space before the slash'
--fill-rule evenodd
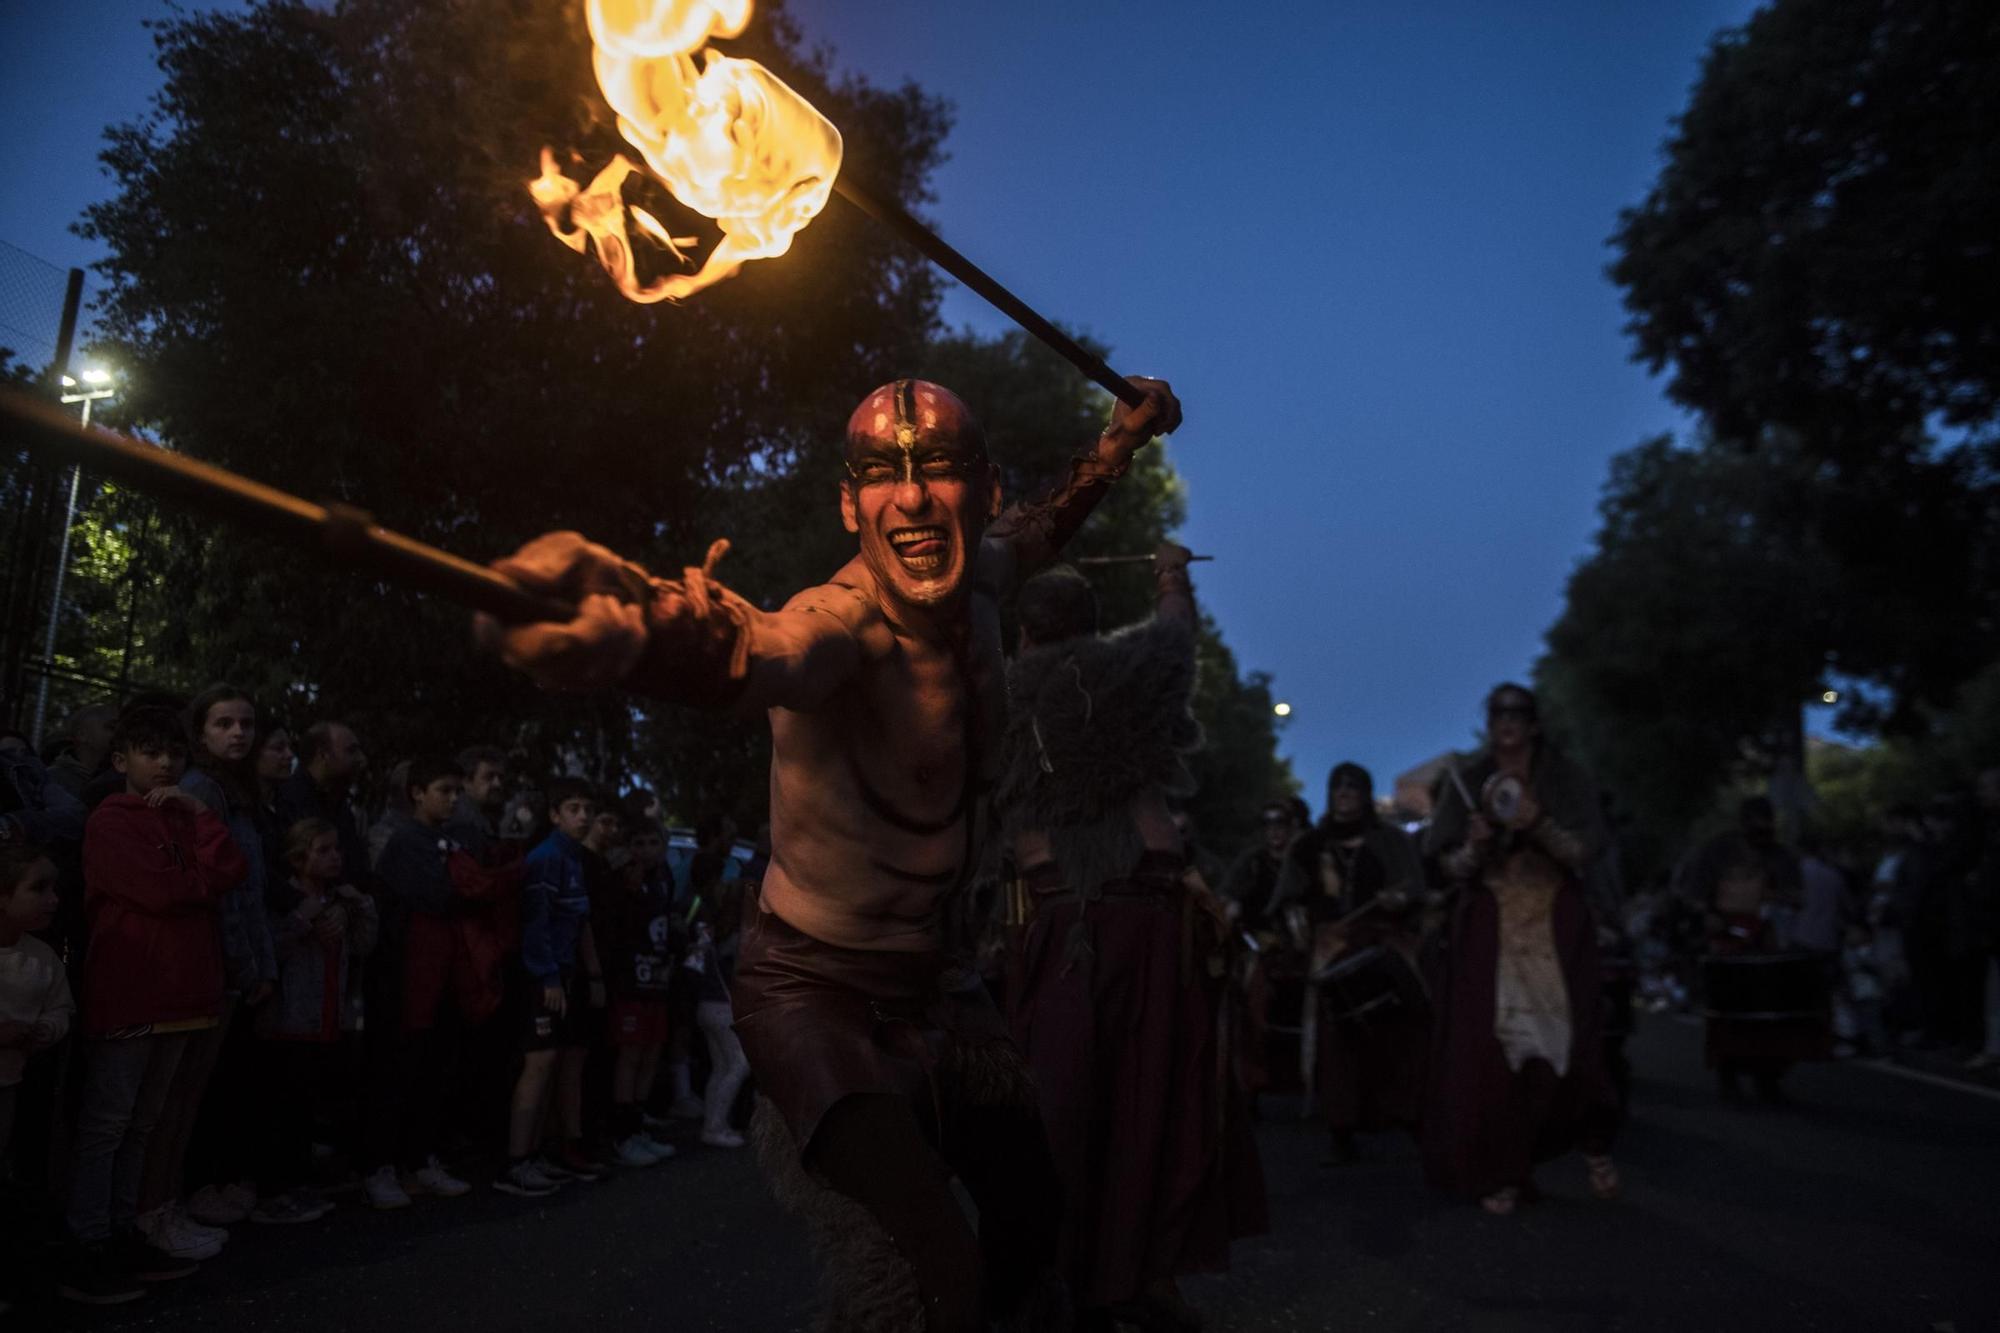
<path id="1" fill-rule="evenodd" d="M 784 1117 L 764 1097 L 750 1141 L 778 1207 L 806 1223 L 820 1271 L 820 1333 L 924 1333 L 916 1269 L 862 1205 L 812 1179 Z"/>

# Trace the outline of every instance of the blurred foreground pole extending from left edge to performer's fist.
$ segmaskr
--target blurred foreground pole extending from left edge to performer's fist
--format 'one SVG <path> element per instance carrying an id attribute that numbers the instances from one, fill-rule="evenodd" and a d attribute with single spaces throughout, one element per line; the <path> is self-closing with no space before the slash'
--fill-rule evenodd
<path id="1" fill-rule="evenodd" d="M 508 624 L 568 620 L 576 614 L 572 604 L 530 592 L 484 564 L 390 532 L 358 508 L 314 504 L 168 448 L 88 430 L 56 404 L 22 392 L 0 392 L 0 424 L 30 452 L 116 476 L 138 490 L 180 500 L 292 544 L 318 546 L 336 560 L 484 610 Z"/>

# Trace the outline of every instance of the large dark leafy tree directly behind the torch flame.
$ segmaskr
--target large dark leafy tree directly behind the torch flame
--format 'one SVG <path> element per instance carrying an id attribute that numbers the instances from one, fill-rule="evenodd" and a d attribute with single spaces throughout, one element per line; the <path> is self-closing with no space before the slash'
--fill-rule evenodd
<path id="1" fill-rule="evenodd" d="M 156 44 L 166 84 L 110 132 L 116 192 L 80 228 L 108 250 L 100 326 L 142 424 L 420 538 L 490 556 L 574 526 L 678 566 L 716 486 L 786 468 L 936 324 L 930 268 L 846 208 L 680 308 L 624 302 L 558 246 L 524 188 L 540 148 L 618 148 L 578 4 L 268 0 L 162 20 Z M 828 108 L 856 170 L 922 202 L 936 100 L 832 82 L 776 6 L 736 48 Z M 630 757 L 624 703 L 536 695 L 452 608 L 168 526 L 180 614 L 160 652 L 202 677 L 418 749 Z"/>

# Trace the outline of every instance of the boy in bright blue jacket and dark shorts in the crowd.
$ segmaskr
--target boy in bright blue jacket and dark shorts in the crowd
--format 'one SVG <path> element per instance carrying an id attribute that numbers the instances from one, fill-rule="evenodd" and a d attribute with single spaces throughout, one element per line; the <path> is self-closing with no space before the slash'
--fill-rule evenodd
<path id="1" fill-rule="evenodd" d="M 494 1189 L 542 1197 L 564 1181 L 594 1181 L 602 1163 L 584 1153 L 584 1005 L 588 987 L 602 993 L 590 935 L 590 881 L 584 837 L 596 817 L 596 799 L 578 779 L 548 785 L 554 829 L 528 853 L 520 895 L 520 961 L 528 973 L 528 1029 L 522 1039 L 520 1079 L 508 1121 L 508 1167 Z M 582 965 L 582 977 L 578 977 Z M 560 1087 L 556 1117 L 562 1147 L 556 1157 L 534 1157 L 548 1113 L 550 1083 Z"/>

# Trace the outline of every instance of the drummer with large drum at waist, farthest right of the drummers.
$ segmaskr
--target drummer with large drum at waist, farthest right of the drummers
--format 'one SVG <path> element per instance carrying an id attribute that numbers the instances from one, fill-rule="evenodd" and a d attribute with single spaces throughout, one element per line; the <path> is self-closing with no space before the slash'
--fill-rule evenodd
<path id="1" fill-rule="evenodd" d="M 1746 799 L 1736 809 L 1736 829 L 1698 847 L 1680 865 L 1676 879 L 1678 891 L 1706 913 L 1708 959 L 1770 957 L 1784 947 L 1778 925 L 1802 897 L 1802 875 L 1798 855 L 1778 839 L 1778 817 L 1764 797 Z M 1704 979 L 1712 967 L 1714 963 L 1704 965 Z M 1806 1015 L 1826 1007 L 1824 973 L 1818 969 L 1766 967 L 1760 975 L 1784 989 L 1810 989 L 1804 995 L 1758 1001 L 1764 1013 Z M 1830 1045 L 1826 1025 L 1818 1019 L 1738 1019 L 1714 1005 L 1708 1005 L 1708 1065 L 1716 1071 L 1716 1091 L 1728 1103 L 1744 1099 L 1742 1077 L 1750 1075 L 1758 1099 L 1782 1105 L 1784 1073 L 1796 1061 L 1822 1059 Z"/>

